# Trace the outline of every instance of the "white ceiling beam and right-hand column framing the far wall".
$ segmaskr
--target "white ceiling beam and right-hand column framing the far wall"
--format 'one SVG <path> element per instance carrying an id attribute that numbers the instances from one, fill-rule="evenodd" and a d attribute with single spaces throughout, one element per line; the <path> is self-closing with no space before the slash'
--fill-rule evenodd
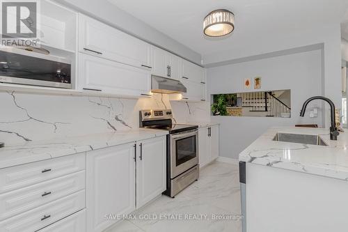
<path id="1" fill-rule="evenodd" d="M 204 56 L 203 61 L 207 65 L 317 44 L 324 45 L 322 56 L 323 94 L 333 100 L 335 105 L 340 105 L 341 94 L 338 89 L 341 88 L 341 32 L 339 22 L 337 24 L 320 24 L 317 27 L 292 30 L 287 33 L 270 31 L 267 36 L 261 36 L 258 40 L 249 38 L 243 44 L 231 44 L 225 52 Z"/>

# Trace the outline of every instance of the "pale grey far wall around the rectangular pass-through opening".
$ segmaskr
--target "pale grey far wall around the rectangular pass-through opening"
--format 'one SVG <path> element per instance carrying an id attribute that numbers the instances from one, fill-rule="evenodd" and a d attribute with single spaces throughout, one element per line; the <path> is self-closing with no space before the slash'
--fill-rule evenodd
<path id="1" fill-rule="evenodd" d="M 246 77 L 262 77 L 260 91 L 291 90 L 291 118 L 212 116 L 212 121 L 221 123 L 220 155 L 223 157 L 237 159 L 244 148 L 272 126 L 303 123 L 322 125 L 320 111 L 317 118 L 309 118 L 308 114 L 304 118 L 299 116 L 306 99 L 322 95 L 320 50 L 208 68 L 207 77 L 209 94 L 253 91 L 244 89 L 243 80 Z M 313 105 L 322 107 L 321 102 L 313 102 L 308 105 L 308 109 Z"/>

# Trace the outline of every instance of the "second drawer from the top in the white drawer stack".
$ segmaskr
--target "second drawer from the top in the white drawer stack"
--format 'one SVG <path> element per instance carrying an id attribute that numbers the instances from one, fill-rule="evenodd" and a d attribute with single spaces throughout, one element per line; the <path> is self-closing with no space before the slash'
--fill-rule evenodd
<path id="1" fill-rule="evenodd" d="M 86 171 L 0 194 L 0 220 L 61 199 L 86 187 Z"/>

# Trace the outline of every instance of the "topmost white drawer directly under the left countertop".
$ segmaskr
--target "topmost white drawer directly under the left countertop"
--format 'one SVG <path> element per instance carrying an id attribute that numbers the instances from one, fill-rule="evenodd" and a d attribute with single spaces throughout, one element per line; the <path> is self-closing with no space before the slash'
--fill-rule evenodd
<path id="1" fill-rule="evenodd" d="M 86 169 L 86 153 L 0 169 L 0 193 Z"/>

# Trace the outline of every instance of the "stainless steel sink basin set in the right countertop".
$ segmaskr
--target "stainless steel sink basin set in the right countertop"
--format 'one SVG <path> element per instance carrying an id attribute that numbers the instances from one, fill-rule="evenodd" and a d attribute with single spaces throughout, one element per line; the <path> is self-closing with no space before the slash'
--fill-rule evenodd
<path id="1" fill-rule="evenodd" d="M 311 134 L 287 134 L 287 133 L 277 133 L 273 139 L 274 141 L 285 141 L 288 143 L 296 144 L 312 144 L 319 146 L 328 146 L 324 140 L 318 135 Z"/>

